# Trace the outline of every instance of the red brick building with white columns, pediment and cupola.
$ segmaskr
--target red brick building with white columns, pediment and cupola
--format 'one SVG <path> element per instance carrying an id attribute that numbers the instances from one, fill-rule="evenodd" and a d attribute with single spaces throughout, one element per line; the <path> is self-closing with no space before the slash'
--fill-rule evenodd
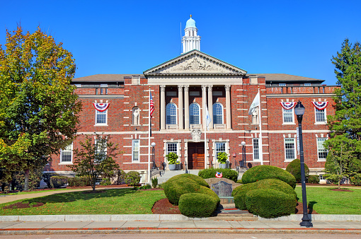
<path id="1" fill-rule="evenodd" d="M 297 117 L 292 105 L 300 100 L 306 108 L 302 122 L 304 160 L 311 174 L 322 174 L 327 153 L 322 145 L 328 137 L 326 116 L 334 114 L 332 96 L 337 86 L 302 76 L 247 74 L 200 52 L 200 37 L 192 21 L 190 18 L 185 28 L 183 54 L 168 62 L 139 75 L 74 78 L 83 104 L 79 136 L 53 157 L 45 171 L 70 173 L 67 165 L 73 161 L 72 148 L 79 147 L 84 134 L 97 132 L 109 134 L 120 145 L 124 152 L 116 159 L 120 168 L 138 170 L 145 182 L 150 91 L 155 105 L 151 142 L 156 144 L 157 166 L 174 152 L 183 168 L 218 167 L 217 153 L 224 151 L 230 167 L 236 168 L 244 162 L 244 141 L 248 167 L 263 164 L 286 168 L 299 158 Z M 248 115 L 258 91 L 260 106 Z M 319 110 L 314 103 L 319 109 L 328 105 Z M 206 142 L 204 105 L 211 118 Z"/>

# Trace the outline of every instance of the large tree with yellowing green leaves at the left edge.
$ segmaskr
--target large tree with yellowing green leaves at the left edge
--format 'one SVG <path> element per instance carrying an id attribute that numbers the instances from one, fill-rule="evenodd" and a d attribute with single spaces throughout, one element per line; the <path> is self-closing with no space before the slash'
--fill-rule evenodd
<path id="1" fill-rule="evenodd" d="M 6 30 L 0 45 L 0 165 L 6 174 L 43 168 L 76 136 L 81 103 L 72 54 L 42 33 Z"/>

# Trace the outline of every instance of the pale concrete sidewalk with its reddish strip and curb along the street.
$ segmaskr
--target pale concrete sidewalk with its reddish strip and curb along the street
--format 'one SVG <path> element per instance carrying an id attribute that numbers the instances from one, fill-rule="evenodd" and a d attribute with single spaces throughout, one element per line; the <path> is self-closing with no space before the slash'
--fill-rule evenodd
<path id="1" fill-rule="evenodd" d="M 0 235 L 97 233 L 361 233 L 360 221 L 8 221 Z"/>

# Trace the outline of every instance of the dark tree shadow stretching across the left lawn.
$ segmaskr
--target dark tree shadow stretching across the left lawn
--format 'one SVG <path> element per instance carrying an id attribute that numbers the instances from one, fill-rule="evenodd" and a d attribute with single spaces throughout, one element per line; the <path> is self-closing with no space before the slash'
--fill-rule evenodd
<path id="1" fill-rule="evenodd" d="M 101 193 L 84 193 L 86 191 L 80 192 L 64 192 L 59 194 L 53 194 L 45 197 L 36 197 L 33 199 L 25 199 L 24 201 L 32 202 L 42 202 L 42 203 L 61 203 L 61 202 L 74 202 L 78 200 L 89 200 L 95 198 L 105 198 L 105 197 L 122 197 L 125 194 L 133 194 L 137 191 L 132 189 L 115 189 L 115 190 L 104 190 L 105 192 Z"/>

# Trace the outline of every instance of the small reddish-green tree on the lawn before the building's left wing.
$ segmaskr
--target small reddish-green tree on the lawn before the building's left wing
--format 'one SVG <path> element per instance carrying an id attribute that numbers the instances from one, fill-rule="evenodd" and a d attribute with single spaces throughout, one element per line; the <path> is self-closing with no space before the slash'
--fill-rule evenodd
<path id="1" fill-rule="evenodd" d="M 110 136 L 96 134 L 94 141 L 86 136 L 85 142 L 80 142 L 81 148 L 74 149 L 74 163 L 69 165 L 77 175 L 86 176 L 91 182 L 93 192 L 96 190 L 96 180 L 99 176 L 113 177 L 119 168 L 116 158 L 118 145 L 110 142 Z"/>

